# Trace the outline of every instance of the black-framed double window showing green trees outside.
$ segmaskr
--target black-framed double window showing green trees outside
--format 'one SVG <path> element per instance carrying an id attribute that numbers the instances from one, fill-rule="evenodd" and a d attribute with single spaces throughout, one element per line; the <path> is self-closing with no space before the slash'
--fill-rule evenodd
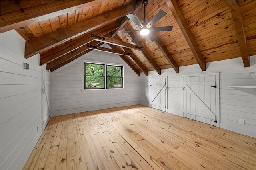
<path id="1" fill-rule="evenodd" d="M 84 63 L 84 89 L 123 88 L 123 67 Z"/>

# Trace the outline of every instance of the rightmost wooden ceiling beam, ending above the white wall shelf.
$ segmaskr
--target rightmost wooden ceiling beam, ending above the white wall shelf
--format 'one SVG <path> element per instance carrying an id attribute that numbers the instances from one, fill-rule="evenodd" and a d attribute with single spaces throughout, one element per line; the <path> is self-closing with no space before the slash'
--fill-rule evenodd
<path id="1" fill-rule="evenodd" d="M 240 12 L 240 7 L 238 5 L 238 2 L 235 0 L 226 0 L 226 2 L 228 3 L 228 6 L 230 7 L 230 10 L 231 10 L 233 22 L 236 29 L 236 35 L 237 35 L 242 59 L 244 62 L 244 67 L 249 67 L 250 56 L 247 49 L 246 36 L 244 33 L 244 25 L 242 21 L 241 12 Z"/>

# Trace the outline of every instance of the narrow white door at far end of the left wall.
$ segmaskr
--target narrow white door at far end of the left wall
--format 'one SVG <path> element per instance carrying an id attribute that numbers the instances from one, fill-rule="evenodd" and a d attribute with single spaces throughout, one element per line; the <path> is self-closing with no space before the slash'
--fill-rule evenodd
<path id="1" fill-rule="evenodd" d="M 50 73 L 42 70 L 42 129 L 50 120 Z"/>

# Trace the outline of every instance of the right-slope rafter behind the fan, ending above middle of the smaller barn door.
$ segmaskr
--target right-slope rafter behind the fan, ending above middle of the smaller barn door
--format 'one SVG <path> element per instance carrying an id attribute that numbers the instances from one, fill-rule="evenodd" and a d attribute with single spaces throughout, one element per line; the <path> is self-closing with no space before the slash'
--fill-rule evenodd
<path id="1" fill-rule="evenodd" d="M 126 27 L 124 26 L 123 27 L 124 30 L 126 30 Z M 134 35 L 134 33 L 126 33 L 126 35 L 129 37 L 130 40 L 133 40 L 136 36 Z M 138 45 L 139 47 L 143 47 L 143 45 L 140 43 L 140 41 L 136 41 L 136 42 L 133 42 L 134 45 Z M 156 70 L 156 72 L 161 75 L 161 69 L 160 67 L 149 57 L 150 54 L 146 51 L 146 50 L 143 50 L 143 51 L 140 51 L 142 53 L 142 55 L 146 58 L 146 60 L 151 64 L 151 66 Z"/>

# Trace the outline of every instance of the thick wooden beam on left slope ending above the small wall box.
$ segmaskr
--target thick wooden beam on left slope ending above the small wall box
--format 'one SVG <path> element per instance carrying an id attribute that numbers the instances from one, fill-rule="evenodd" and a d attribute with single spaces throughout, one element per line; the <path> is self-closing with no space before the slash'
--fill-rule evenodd
<path id="1" fill-rule="evenodd" d="M 42 53 L 47 49 L 68 41 L 70 38 L 77 37 L 103 25 L 108 25 L 108 23 L 112 23 L 113 21 L 132 13 L 133 10 L 134 3 L 132 2 L 125 6 L 121 6 L 120 8 L 104 12 L 103 14 L 99 14 L 73 25 L 50 32 L 47 35 L 42 35 L 28 40 L 25 45 L 25 57 L 28 58 L 35 54 Z"/>

